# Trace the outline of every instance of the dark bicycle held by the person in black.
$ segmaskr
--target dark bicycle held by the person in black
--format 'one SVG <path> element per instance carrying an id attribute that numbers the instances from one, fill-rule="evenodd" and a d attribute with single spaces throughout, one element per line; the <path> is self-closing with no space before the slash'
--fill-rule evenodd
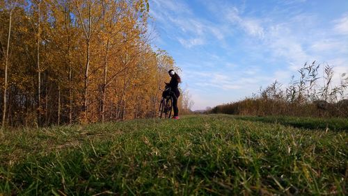
<path id="1" fill-rule="evenodd" d="M 161 90 L 161 89 L 159 89 Z M 159 104 L 158 117 L 171 118 L 173 111 L 173 92 L 171 88 L 166 83 L 166 88 L 162 92 L 162 99 Z"/>

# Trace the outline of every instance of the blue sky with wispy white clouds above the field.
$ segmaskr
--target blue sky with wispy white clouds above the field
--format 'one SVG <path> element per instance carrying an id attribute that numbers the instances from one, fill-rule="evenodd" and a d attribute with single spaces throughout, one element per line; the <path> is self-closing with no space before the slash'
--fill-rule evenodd
<path id="1" fill-rule="evenodd" d="M 348 72 L 347 0 L 150 0 L 150 15 L 195 110 L 287 84 L 313 60 Z"/>

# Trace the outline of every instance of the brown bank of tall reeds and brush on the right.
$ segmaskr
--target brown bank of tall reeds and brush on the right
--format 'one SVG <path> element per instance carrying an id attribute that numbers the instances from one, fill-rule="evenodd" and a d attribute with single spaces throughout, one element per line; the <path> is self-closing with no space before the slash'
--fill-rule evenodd
<path id="1" fill-rule="evenodd" d="M 315 62 L 299 70 L 299 78 L 284 87 L 275 81 L 260 93 L 242 101 L 212 108 L 212 113 L 233 115 L 292 115 L 313 117 L 348 117 L 348 75 L 340 74 L 340 83 L 333 84 L 333 67 Z"/>

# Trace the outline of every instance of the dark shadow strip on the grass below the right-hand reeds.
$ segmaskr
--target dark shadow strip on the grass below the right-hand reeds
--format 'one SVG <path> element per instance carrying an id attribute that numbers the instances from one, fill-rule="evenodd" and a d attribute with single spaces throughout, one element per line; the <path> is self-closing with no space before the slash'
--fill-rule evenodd
<path id="1" fill-rule="evenodd" d="M 313 117 L 283 117 L 283 116 L 235 116 L 237 120 L 258 121 L 266 123 L 278 123 L 285 126 L 294 126 L 302 129 L 323 129 L 332 131 L 348 131 L 347 118 L 313 118 Z"/>

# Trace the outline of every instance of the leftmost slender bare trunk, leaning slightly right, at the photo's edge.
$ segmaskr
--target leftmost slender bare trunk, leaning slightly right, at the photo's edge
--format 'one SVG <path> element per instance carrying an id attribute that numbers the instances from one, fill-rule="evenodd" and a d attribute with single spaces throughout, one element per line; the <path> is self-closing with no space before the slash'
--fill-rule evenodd
<path id="1" fill-rule="evenodd" d="M 12 27 L 12 12 L 13 8 L 10 10 L 10 18 L 8 22 L 8 38 L 7 38 L 7 48 L 5 57 L 5 83 L 3 84 L 3 115 L 2 115 L 2 129 L 6 124 L 6 110 L 7 110 L 7 88 L 8 88 L 8 53 L 10 51 L 10 37 L 11 37 L 11 27 Z"/>

